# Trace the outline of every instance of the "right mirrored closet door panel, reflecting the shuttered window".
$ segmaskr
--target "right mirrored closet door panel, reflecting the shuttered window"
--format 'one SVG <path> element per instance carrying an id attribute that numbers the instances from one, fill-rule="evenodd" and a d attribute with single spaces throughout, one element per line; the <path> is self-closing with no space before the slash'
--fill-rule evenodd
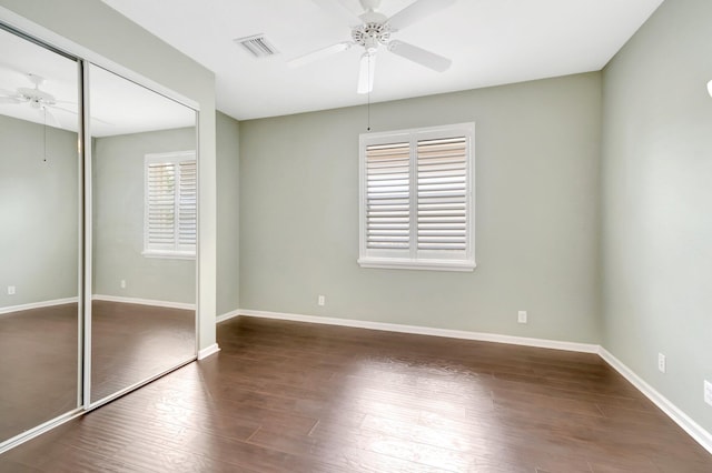
<path id="1" fill-rule="evenodd" d="M 196 112 L 89 67 L 91 402 L 196 355 Z"/>

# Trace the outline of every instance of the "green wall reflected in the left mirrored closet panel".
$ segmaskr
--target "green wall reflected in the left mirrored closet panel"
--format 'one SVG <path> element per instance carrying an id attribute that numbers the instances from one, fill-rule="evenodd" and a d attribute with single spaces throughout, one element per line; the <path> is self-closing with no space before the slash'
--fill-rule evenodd
<path id="1" fill-rule="evenodd" d="M 77 133 L 48 127 L 47 162 L 43 133 L 0 115 L 0 310 L 79 293 Z"/>

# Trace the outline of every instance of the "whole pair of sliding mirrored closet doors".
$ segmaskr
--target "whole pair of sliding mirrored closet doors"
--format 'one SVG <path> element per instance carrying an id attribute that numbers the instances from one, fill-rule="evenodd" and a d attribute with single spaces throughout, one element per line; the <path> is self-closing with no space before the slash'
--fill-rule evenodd
<path id="1" fill-rule="evenodd" d="M 0 23 L 0 452 L 196 359 L 196 118 Z"/>

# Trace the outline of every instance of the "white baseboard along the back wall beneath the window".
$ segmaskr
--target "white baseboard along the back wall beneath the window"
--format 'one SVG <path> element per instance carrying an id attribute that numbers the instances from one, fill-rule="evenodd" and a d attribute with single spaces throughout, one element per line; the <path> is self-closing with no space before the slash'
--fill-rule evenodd
<path id="1" fill-rule="evenodd" d="M 229 315 L 229 316 L 228 316 Z M 220 322 L 237 315 L 279 319 L 295 322 L 320 323 L 326 325 L 350 326 L 356 329 L 382 330 L 386 332 L 413 333 L 416 335 L 445 336 L 448 339 L 476 340 L 481 342 L 508 343 L 512 345 L 536 346 L 541 349 L 566 350 L 572 352 L 599 353 L 599 345 L 589 343 L 561 342 L 557 340 L 528 339 L 524 336 L 498 335 L 496 333 L 467 332 L 462 330 L 435 329 L 431 326 L 402 325 L 397 323 L 368 322 L 355 319 L 335 319 L 317 315 L 288 314 L 280 312 L 251 311 L 240 309 L 221 315 Z"/>

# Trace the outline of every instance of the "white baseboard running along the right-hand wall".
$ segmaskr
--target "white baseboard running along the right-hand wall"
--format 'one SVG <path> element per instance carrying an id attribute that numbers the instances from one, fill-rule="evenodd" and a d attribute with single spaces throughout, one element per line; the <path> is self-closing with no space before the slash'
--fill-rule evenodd
<path id="1" fill-rule="evenodd" d="M 599 355 L 605 360 L 615 371 L 621 373 L 631 384 L 633 384 L 645 397 L 650 399 L 657 407 L 660 407 L 670 419 L 680 425 L 690 434 L 700 445 L 708 452 L 712 453 L 712 433 L 704 430 L 700 424 L 694 422 L 688 414 L 682 412 L 668 397 L 659 393 L 653 386 L 647 384 L 641 376 L 635 374 L 633 370 L 627 368 L 611 354 L 606 349 L 601 346 Z"/>

